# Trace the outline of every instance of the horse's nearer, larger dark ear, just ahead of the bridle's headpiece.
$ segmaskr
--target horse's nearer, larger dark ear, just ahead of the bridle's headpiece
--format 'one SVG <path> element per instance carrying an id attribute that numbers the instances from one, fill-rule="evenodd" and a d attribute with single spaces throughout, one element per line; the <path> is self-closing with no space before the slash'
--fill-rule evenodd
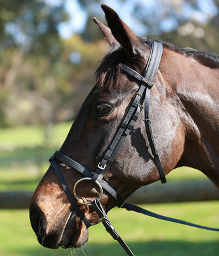
<path id="1" fill-rule="evenodd" d="M 142 51 L 146 50 L 146 44 L 134 33 L 119 15 L 108 5 L 102 3 L 103 11 L 106 14 L 108 26 L 113 33 L 113 36 L 122 45 L 125 53 L 129 57 L 141 55 Z"/>

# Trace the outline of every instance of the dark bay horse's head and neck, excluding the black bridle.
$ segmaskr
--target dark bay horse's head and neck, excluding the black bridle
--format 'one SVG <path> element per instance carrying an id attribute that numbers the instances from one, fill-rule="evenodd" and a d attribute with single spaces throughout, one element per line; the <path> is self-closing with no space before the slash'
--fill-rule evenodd
<path id="1" fill-rule="evenodd" d="M 126 64 L 144 74 L 153 40 L 138 37 L 117 13 L 102 5 L 108 27 L 94 18 L 112 47 L 98 70 L 96 85 L 87 96 L 60 152 L 94 172 L 129 109 L 137 83 L 121 72 Z M 186 51 L 161 42 L 163 56 L 151 89 L 149 114 L 157 152 L 167 175 L 174 167 L 202 171 L 219 188 L 219 58 Z M 140 186 L 160 179 L 149 148 L 144 114 L 140 114 L 104 181 L 125 200 Z M 73 194 L 83 177 L 66 163 L 57 161 Z M 90 181 L 77 186 L 84 202 L 99 198 Z M 116 205 L 104 190 L 106 211 Z M 79 206 L 91 224 L 100 222 L 92 206 Z M 30 219 L 39 243 L 45 247 L 80 247 L 88 240 L 88 228 L 73 211 L 52 166 L 37 186 L 30 205 Z"/>

